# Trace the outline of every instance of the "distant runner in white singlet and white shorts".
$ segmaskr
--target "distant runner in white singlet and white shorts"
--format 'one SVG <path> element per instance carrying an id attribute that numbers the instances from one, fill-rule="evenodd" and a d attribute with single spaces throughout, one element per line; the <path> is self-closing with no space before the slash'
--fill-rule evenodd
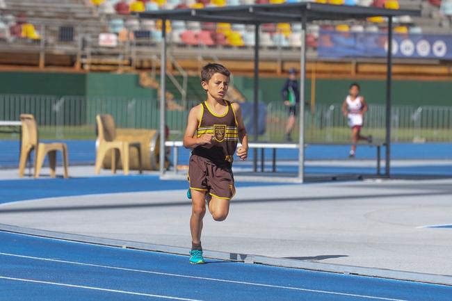
<path id="1" fill-rule="evenodd" d="M 352 146 L 350 158 L 355 157 L 358 140 L 367 140 L 372 143 L 372 136 L 362 136 L 361 128 L 364 121 L 364 114 L 367 112 L 367 104 L 364 97 L 360 96 L 360 85 L 352 83 L 348 95 L 342 104 L 342 113 L 347 117 L 348 126 L 352 129 Z"/>

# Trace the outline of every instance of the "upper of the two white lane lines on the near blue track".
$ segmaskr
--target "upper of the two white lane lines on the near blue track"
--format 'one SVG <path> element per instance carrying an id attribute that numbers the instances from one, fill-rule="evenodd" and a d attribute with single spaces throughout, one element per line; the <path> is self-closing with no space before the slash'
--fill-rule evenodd
<path id="1" fill-rule="evenodd" d="M 288 290 L 293 290 L 293 291 L 307 291 L 307 292 L 312 292 L 312 293 L 324 293 L 324 294 L 329 294 L 329 295 L 344 295 L 344 296 L 348 296 L 348 297 L 366 298 L 366 299 L 372 299 L 372 300 L 408 301 L 408 300 L 402 300 L 402 299 L 375 297 L 375 296 L 370 296 L 370 295 L 357 295 L 357 294 L 352 294 L 352 293 L 339 293 L 339 292 L 335 292 L 335 291 L 321 291 L 321 290 L 309 289 L 309 288 L 298 288 L 298 287 L 291 287 L 291 286 L 279 286 L 279 285 L 273 285 L 273 284 L 260 284 L 260 283 L 255 283 L 255 282 L 242 282 L 242 281 L 228 280 L 228 279 L 198 277 L 198 276 L 190 276 L 190 275 L 179 275 L 179 274 L 173 274 L 173 273 L 169 273 L 169 272 L 155 272 L 155 271 L 152 271 L 152 270 L 137 270 L 137 269 L 134 269 L 134 268 L 120 268 L 120 267 L 117 267 L 117 266 L 102 266 L 102 265 L 93 264 L 93 263 L 82 263 L 82 262 L 76 262 L 76 261 L 65 261 L 65 260 L 49 259 L 49 258 L 42 258 L 42 257 L 31 257 L 31 256 L 26 256 L 26 255 L 10 254 L 10 253 L 3 253 L 3 252 L 0 252 L 0 255 L 10 256 L 10 257 L 26 258 L 26 259 L 35 259 L 35 260 L 41 260 L 41 261 L 68 263 L 68 264 L 73 264 L 73 265 L 76 265 L 76 266 L 91 266 L 91 267 L 96 267 L 96 268 L 108 268 L 108 269 L 112 269 L 112 270 L 125 270 L 125 271 L 129 271 L 129 272 L 142 272 L 142 273 L 152 274 L 152 275 L 162 275 L 162 276 L 190 278 L 190 279 L 200 279 L 200 280 L 207 280 L 207 281 L 213 281 L 213 282 L 225 282 L 225 283 L 232 283 L 232 284 L 244 284 L 244 285 L 262 286 L 262 287 L 269 287 L 269 288 L 282 288 L 282 289 L 288 289 Z"/>

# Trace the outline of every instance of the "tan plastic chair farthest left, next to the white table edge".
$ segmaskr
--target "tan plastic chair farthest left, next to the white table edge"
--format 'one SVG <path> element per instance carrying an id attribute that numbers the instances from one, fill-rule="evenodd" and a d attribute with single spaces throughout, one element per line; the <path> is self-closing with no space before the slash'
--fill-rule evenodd
<path id="1" fill-rule="evenodd" d="M 39 143 L 38 126 L 36 125 L 35 117 L 33 117 L 33 115 L 21 114 L 20 121 L 22 122 L 22 139 L 20 145 L 19 177 L 24 177 L 26 161 L 32 150 L 35 151 L 35 178 L 39 177 L 46 154 L 49 156 L 50 177 L 56 177 L 55 167 L 57 151 L 60 151 L 63 154 L 63 177 L 69 177 L 67 173 L 67 145 L 65 143 Z"/>

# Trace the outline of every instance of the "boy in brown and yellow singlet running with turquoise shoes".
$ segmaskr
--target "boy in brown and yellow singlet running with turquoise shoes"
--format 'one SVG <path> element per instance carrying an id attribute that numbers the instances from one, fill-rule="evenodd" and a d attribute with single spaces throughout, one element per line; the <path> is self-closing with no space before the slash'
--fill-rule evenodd
<path id="1" fill-rule="evenodd" d="M 206 200 L 214 220 L 222 221 L 229 213 L 229 201 L 235 194 L 232 161 L 239 140 L 242 146 L 237 156 L 248 156 L 248 136 L 239 104 L 225 97 L 229 85 L 229 70 L 223 65 L 208 64 L 201 70 L 201 86 L 207 100 L 193 107 L 188 114 L 184 147 L 193 151 L 188 165 L 192 200 L 190 230 L 192 247 L 190 263 L 204 263 L 202 257 L 202 218 Z"/>

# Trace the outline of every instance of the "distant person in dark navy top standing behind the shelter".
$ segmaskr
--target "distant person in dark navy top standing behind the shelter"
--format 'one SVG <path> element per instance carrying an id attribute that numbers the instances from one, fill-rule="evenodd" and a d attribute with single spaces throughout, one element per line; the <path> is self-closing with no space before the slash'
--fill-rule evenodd
<path id="1" fill-rule="evenodd" d="M 289 78 L 286 80 L 281 90 L 284 105 L 289 108 L 289 119 L 287 120 L 285 132 L 287 141 L 292 141 L 291 133 L 296 121 L 296 106 L 300 103 L 300 92 L 298 90 L 296 76 L 297 70 L 295 68 L 290 68 Z"/>

